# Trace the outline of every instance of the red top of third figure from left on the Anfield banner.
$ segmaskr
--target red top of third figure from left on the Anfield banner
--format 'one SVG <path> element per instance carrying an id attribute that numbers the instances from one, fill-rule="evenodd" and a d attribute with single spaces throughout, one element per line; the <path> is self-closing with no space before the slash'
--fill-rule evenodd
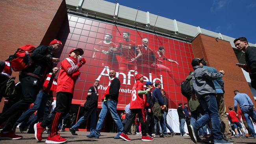
<path id="1" fill-rule="evenodd" d="M 151 65 L 152 63 L 155 62 L 155 54 L 154 51 L 151 50 L 150 48 L 145 48 L 143 45 L 139 45 L 139 50 L 141 50 L 142 56 L 137 59 L 138 65 Z"/>

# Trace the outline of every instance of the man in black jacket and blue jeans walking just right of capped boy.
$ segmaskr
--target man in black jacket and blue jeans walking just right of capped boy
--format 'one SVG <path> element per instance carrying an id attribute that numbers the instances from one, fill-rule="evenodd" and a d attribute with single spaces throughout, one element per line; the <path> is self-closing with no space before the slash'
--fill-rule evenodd
<path id="1" fill-rule="evenodd" d="M 88 90 L 86 102 L 84 104 L 84 113 L 83 116 L 78 120 L 78 122 L 72 126 L 69 131 L 72 135 L 76 134 L 76 129 L 78 129 L 79 126 L 81 126 L 83 123 L 86 122 L 86 120 L 91 116 L 91 130 L 90 133 L 92 133 L 92 130 L 96 128 L 96 109 L 98 107 L 98 85 L 99 81 L 95 80 L 93 83 L 93 86 L 91 86 Z"/>

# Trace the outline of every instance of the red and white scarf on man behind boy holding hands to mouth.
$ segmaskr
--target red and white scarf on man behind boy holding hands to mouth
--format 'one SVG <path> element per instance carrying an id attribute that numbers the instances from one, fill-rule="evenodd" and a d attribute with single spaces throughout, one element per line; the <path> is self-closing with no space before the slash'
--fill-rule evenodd
<path id="1" fill-rule="evenodd" d="M 45 92 L 49 92 L 50 90 L 56 91 L 56 89 L 57 89 L 57 77 L 55 75 L 52 75 L 52 73 L 50 72 L 47 75 L 45 82 L 43 84 L 43 91 Z"/>

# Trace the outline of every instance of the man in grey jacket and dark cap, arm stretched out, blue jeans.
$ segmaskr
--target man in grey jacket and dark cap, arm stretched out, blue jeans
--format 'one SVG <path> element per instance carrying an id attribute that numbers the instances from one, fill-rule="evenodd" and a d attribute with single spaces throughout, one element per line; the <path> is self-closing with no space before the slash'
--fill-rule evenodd
<path id="1" fill-rule="evenodd" d="M 193 126 L 188 126 L 190 137 L 193 142 L 197 143 L 197 130 L 211 120 L 213 142 L 216 144 L 232 144 L 232 142 L 224 140 L 221 133 L 218 106 L 215 98 L 217 93 L 213 84 L 213 80 L 222 78 L 225 72 L 224 70 L 220 70 L 217 73 L 212 73 L 206 68 L 203 68 L 202 61 L 203 58 L 195 58 L 191 62 L 194 69 L 192 74 L 193 89 L 204 110 L 204 115 Z"/>

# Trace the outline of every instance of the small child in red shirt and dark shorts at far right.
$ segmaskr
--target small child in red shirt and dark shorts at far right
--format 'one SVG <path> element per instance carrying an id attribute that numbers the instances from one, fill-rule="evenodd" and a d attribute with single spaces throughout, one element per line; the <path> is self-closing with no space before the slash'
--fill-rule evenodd
<path id="1" fill-rule="evenodd" d="M 238 115 L 237 115 L 237 113 L 234 111 L 234 108 L 233 108 L 232 106 L 229 106 L 228 109 L 230 110 L 230 112 L 228 113 L 228 116 L 229 116 L 229 118 L 231 119 L 232 124 L 233 124 L 233 127 L 234 127 L 234 129 L 235 129 L 235 133 L 236 133 L 235 137 L 239 137 L 239 134 L 238 134 L 238 131 L 237 131 L 237 128 L 238 128 L 238 127 L 240 128 L 240 131 L 243 133 L 243 134 L 241 135 L 241 137 L 247 137 L 247 136 L 245 135 L 245 132 L 243 131 L 242 125 L 240 124 L 240 122 L 239 122 L 239 120 L 238 120 L 238 118 L 237 118 Z"/>

